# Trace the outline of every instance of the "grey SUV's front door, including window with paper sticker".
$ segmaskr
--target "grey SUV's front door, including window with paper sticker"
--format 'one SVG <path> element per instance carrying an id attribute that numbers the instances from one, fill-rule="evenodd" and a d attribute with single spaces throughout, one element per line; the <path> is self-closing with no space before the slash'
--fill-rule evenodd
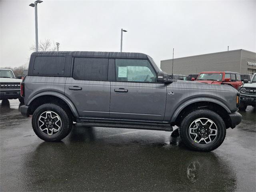
<path id="1" fill-rule="evenodd" d="M 156 71 L 148 60 L 116 59 L 115 81 L 111 81 L 110 118 L 162 121 L 166 85 L 156 82 Z"/>

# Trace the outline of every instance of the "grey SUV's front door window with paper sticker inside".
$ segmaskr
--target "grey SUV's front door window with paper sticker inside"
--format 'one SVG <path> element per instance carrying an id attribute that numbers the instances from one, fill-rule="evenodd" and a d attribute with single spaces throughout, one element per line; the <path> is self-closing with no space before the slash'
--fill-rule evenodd
<path id="1" fill-rule="evenodd" d="M 116 81 L 156 82 L 156 72 L 148 60 L 116 59 Z"/>

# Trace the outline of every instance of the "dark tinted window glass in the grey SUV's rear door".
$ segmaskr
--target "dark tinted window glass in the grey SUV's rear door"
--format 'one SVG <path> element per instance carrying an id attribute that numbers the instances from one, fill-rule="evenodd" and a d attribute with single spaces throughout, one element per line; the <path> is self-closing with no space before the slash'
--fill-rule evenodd
<path id="1" fill-rule="evenodd" d="M 108 59 L 75 58 L 73 78 L 76 80 L 106 81 L 108 77 Z"/>

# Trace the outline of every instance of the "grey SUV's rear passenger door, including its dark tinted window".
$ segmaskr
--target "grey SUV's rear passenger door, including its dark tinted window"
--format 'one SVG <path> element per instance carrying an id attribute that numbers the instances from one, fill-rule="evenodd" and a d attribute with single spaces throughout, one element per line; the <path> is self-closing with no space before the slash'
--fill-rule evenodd
<path id="1" fill-rule="evenodd" d="M 109 118 L 110 82 L 107 58 L 73 58 L 65 95 L 83 118 Z"/>

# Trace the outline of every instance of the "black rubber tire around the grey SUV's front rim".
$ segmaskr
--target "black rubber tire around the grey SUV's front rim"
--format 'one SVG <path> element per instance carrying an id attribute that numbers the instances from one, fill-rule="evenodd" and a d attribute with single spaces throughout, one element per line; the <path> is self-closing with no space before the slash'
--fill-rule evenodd
<path id="1" fill-rule="evenodd" d="M 208 118 L 216 124 L 218 130 L 217 136 L 208 144 L 198 144 L 194 142 L 189 135 L 190 125 L 199 118 Z M 218 148 L 222 144 L 226 136 L 226 126 L 223 119 L 218 114 L 211 110 L 201 109 L 191 112 L 182 120 L 179 132 L 180 138 L 188 148 L 195 151 L 208 152 Z"/>

